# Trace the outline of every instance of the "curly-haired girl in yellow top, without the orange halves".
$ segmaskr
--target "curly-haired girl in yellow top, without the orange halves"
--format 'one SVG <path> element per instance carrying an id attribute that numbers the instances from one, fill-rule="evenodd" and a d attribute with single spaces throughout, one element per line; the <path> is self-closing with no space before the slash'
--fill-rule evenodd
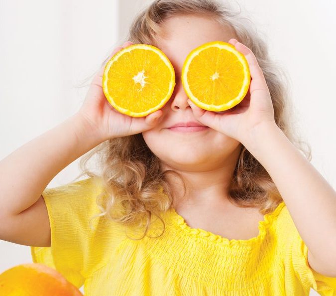
<path id="1" fill-rule="evenodd" d="M 86 296 L 336 295 L 336 192 L 291 132 L 280 72 L 243 20 L 215 0 L 141 11 L 107 60 L 133 43 L 160 48 L 177 79 L 170 100 L 145 118 L 118 113 L 106 60 L 74 116 L 1 161 L 0 238 Z M 224 112 L 195 106 L 180 78 L 188 53 L 215 40 L 251 73 Z M 206 128 L 170 129 L 188 122 Z M 85 153 L 88 178 L 46 188 Z M 85 166 L 94 155 L 100 174 Z"/>

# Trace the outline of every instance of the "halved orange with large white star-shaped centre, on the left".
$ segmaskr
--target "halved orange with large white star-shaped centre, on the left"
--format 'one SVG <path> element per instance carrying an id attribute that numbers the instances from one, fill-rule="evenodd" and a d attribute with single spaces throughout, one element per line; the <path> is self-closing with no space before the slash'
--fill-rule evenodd
<path id="1" fill-rule="evenodd" d="M 112 107 L 131 117 L 162 108 L 175 87 L 175 71 L 157 47 L 132 44 L 115 53 L 103 74 L 103 91 Z"/>

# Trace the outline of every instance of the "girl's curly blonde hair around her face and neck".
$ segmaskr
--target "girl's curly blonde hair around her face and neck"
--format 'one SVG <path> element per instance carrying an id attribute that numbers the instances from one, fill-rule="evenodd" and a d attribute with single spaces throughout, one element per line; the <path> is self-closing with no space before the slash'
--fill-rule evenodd
<path id="1" fill-rule="evenodd" d="M 227 3 L 217 0 L 155 0 L 136 15 L 124 42 L 155 44 L 165 19 L 178 14 L 207 15 L 223 25 L 230 25 L 238 41 L 249 47 L 258 60 L 271 94 L 277 126 L 310 161 L 310 146 L 294 133 L 296 129 L 291 121 L 294 109 L 288 99 L 290 88 L 286 73 L 270 60 L 266 42 L 260 38 L 252 21 L 239 16 L 240 13 L 241 10 L 234 12 Z M 98 158 L 97 174 L 88 165 L 93 156 Z M 160 212 L 167 211 L 174 200 L 167 178 L 169 173 L 181 178 L 186 192 L 182 175 L 174 170 L 162 170 L 160 159 L 148 148 L 141 133 L 101 143 L 83 155 L 79 165 L 82 173 L 77 178 L 87 175 L 99 180 L 105 189 L 97 196 L 101 213 L 92 219 L 106 216 L 125 226 L 144 226 L 140 239 L 146 235 L 154 215 L 162 221 L 164 231 Z M 237 206 L 258 207 L 262 214 L 272 212 L 282 202 L 268 172 L 243 146 L 227 194 Z"/>

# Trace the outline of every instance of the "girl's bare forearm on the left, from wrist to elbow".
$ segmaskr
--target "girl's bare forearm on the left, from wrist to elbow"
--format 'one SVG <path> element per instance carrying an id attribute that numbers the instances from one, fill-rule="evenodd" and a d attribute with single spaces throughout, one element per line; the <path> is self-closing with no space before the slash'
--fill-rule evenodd
<path id="1" fill-rule="evenodd" d="M 0 161 L 0 216 L 34 204 L 63 168 L 100 141 L 78 113 Z"/>

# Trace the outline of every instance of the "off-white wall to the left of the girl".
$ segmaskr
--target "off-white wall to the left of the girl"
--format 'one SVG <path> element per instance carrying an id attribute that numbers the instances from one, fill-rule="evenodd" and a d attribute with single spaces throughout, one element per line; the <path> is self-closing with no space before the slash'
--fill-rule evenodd
<path id="1" fill-rule="evenodd" d="M 0 7 L 2 159 L 78 111 L 88 87 L 76 85 L 116 47 L 118 2 L 0 0 Z M 48 187 L 75 178 L 77 165 L 72 162 Z M 0 241 L 0 273 L 28 262 L 29 247 Z"/>

